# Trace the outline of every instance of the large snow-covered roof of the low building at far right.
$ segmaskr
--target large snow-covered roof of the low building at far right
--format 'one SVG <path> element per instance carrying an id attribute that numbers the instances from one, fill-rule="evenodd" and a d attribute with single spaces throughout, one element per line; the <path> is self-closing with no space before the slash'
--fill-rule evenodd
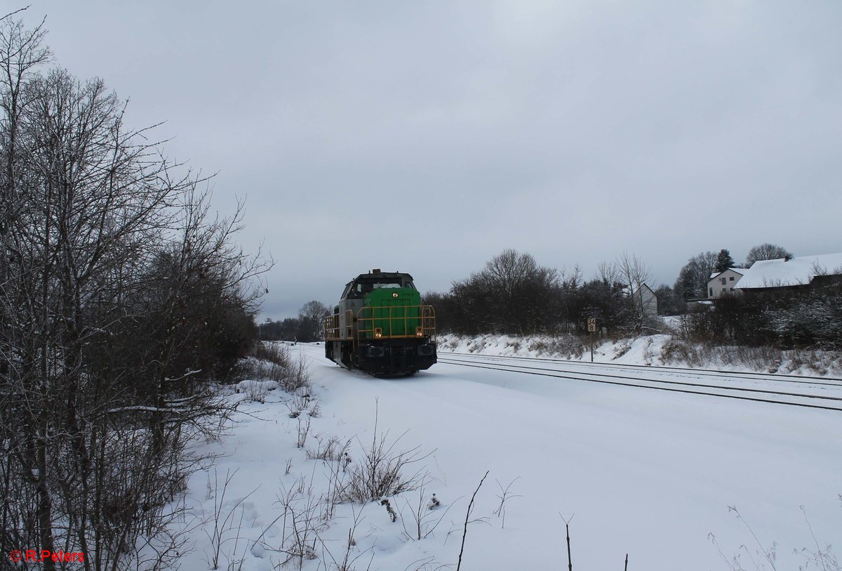
<path id="1" fill-rule="evenodd" d="M 842 253 L 798 256 L 790 259 L 764 259 L 743 270 L 735 290 L 761 287 L 805 286 L 816 275 L 842 273 Z"/>

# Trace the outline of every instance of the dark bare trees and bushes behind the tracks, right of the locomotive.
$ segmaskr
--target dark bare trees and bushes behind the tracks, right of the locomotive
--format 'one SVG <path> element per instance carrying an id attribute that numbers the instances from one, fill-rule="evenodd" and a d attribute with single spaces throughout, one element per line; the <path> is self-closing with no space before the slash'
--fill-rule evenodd
<path id="1" fill-rule="evenodd" d="M 749 251 L 745 265 L 791 255 L 784 248 L 762 244 Z M 674 288 L 655 290 L 661 315 L 680 315 L 680 337 L 709 344 L 842 349 L 842 283 L 780 291 L 764 296 L 725 296 L 709 306 L 690 310 L 685 300 L 706 297 L 711 274 L 734 263 L 727 249 L 693 256 Z M 639 296 L 651 278 L 646 264 L 623 253 L 599 265 L 590 280 L 581 271 L 558 271 L 537 264 L 528 253 L 506 250 L 446 293 L 431 292 L 424 303 L 434 306 L 442 333 L 585 334 L 588 318 L 597 318 L 600 334 L 652 334 L 663 322 L 645 311 Z"/>

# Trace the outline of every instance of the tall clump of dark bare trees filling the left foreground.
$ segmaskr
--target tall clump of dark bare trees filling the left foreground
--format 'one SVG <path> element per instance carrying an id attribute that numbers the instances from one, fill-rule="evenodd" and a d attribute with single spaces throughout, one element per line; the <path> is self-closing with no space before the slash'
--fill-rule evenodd
<path id="1" fill-rule="evenodd" d="M 219 348 L 199 359 L 185 307 L 251 323 L 266 266 L 232 247 L 242 211 L 210 219 L 101 80 L 40 72 L 42 37 L 0 25 L 0 551 L 160 566 L 185 441 L 221 412 L 191 382 Z"/>

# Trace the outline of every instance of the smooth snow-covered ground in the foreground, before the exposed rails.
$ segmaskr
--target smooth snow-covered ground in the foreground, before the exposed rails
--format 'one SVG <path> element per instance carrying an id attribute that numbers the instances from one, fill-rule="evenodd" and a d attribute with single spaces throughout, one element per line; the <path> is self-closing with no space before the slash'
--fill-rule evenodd
<path id="1" fill-rule="evenodd" d="M 626 553 L 629 569 L 647 571 L 740 568 L 734 557 L 745 569 L 813 568 L 828 544 L 842 551 L 842 413 L 445 363 L 375 378 L 340 369 L 320 345 L 293 350 L 310 362 L 317 415 L 290 418 L 296 399 L 273 391 L 242 403 L 231 434 L 205 444 L 222 456 L 189 482 L 183 569 L 211 568 L 216 545 L 219 568 L 278 568 L 296 537 L 310 546 L 305 569 L 342 568 L 346 554 L 359 571 L 454 569 L 487 471 L 466 571 L 566 569 L 562 517 L 574 569 L 622 569 Z M 427 480 L 424 495 L 390 498 L 395 522 L 373 502 L 340 504 L 325 520 L 319 499 L 344 462 L 307 451 L 332 435 L 350 440 L 350 470 L 370 447 L 376 411 L 394 451 L 427 455 L 407 472 Z"/>

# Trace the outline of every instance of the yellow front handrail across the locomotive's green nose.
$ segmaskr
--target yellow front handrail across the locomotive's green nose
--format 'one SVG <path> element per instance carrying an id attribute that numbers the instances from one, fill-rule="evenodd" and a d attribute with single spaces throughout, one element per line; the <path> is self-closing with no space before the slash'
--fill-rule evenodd
<path id="1" fill-rule="evenodd" d="M 400 311 L 397 311 L 400 310 Z M 415 310 L 411 312 L 410 310 Z M 368 312 L 368 315 L 365 313 Z M 398 314 L 399 313 L 399 314 Z M 433 306 L 363 307 L 357 312 L 354 338 L 435 340 L 435 310 Z"/>

